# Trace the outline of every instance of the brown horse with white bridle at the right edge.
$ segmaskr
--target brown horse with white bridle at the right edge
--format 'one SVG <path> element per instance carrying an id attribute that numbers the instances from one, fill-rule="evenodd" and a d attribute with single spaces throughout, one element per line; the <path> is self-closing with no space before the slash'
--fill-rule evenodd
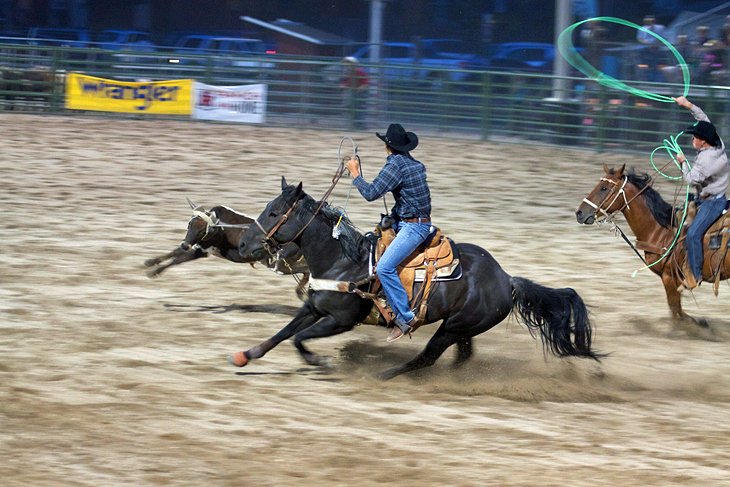
<path id="1" fill-rule="evenodd" d="M 623 213 L 636 236 L 635 249 L 643 251 L 646 265 L 662 278 L 672 318 L 691 320 L 706 327 L 705 320 L 697 321 L 682 311 L 684 231 L 680 238 L 676 236 L 684 212 L 675 211 L 662 199 L 651 187 L 647 174 L 625 172 L 625 167 L 609 169 L 604 164 L 605 174 L 575 212 L 578 223 L 590 225 L 598 213 L 606 218 L 619 211 Z M 730 277 L 729 235 L 730 213 L 720 217 L 705 233 L 703 280 L 714 283 L 715 294 L 719 282 Z"/>

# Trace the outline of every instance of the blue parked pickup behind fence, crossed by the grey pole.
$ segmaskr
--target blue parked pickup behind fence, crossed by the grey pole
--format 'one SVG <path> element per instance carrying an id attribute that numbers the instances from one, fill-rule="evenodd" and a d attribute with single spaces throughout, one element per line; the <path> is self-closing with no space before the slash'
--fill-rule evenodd
<path id="1" fill-rule="evenodd" d="M 480 69 L 482 60 L 477 55 L 439 50 L 441 39 L 413 42 L 385 42 L 380 46 L 383 71 L 389 81 L 464 81 L 471 73 L 464 70 Z M 353 56 L 362 63 L 370 60 L 372 45 L 355 51 Z M 449 70 L 449 71 L 446 71 Z"/>

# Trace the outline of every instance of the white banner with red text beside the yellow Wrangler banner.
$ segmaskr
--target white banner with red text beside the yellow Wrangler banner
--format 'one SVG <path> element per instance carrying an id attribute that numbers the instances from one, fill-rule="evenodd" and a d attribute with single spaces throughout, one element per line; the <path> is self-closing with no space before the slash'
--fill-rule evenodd
<path id="1" fill-rule="evenodd" d="M 266 85 L 211 86 L 196 81 L 193 118 L 264 123 Z"/>

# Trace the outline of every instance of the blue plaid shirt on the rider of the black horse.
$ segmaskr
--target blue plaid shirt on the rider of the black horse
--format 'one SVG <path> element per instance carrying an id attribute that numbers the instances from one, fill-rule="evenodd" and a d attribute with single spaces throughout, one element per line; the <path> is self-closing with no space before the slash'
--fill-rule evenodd
<path id="1" fill-rule="evenodd" d="M 380 173 L 368 183 L 362 176 L 353 180 L 360 194 L 368 201 L 392 192 L 393 213 L 403 218 L 430 218 L 431 192 L 426 182 L 426 166 L 403 154 L 391 154 Z"/>

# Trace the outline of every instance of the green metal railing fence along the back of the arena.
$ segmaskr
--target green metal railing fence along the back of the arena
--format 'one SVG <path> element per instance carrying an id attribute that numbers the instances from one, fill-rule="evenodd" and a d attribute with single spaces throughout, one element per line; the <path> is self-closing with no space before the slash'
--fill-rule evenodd
<path id="1" fill-rule="evenodd" d="M 120 81 L 193 78 L 213 85 L 265 83 L 268 125 L 409 129 L 457 138 L 550 143 L 598 152 L 652 150 L 691 121 L 685 110 L 581 77 L 553 92 L 545 74 L 360 65 L 369 86 L 343 83 L 339 59 L 191 56 L 0 44 L 0 110 L 78 113 L 64 108 L 65 75 L 83 72 Z M 633 84 L 665 95 L 670 83 Z M 730 88 L 693 86 L 690 98 L 719 127 L 730 126 Z M 556 96 L 557 95 L 557 96 Z M 726 115 L 729 114 L 729 115 Z M 110 116 L 120 116 L 110 114 Z"/>

